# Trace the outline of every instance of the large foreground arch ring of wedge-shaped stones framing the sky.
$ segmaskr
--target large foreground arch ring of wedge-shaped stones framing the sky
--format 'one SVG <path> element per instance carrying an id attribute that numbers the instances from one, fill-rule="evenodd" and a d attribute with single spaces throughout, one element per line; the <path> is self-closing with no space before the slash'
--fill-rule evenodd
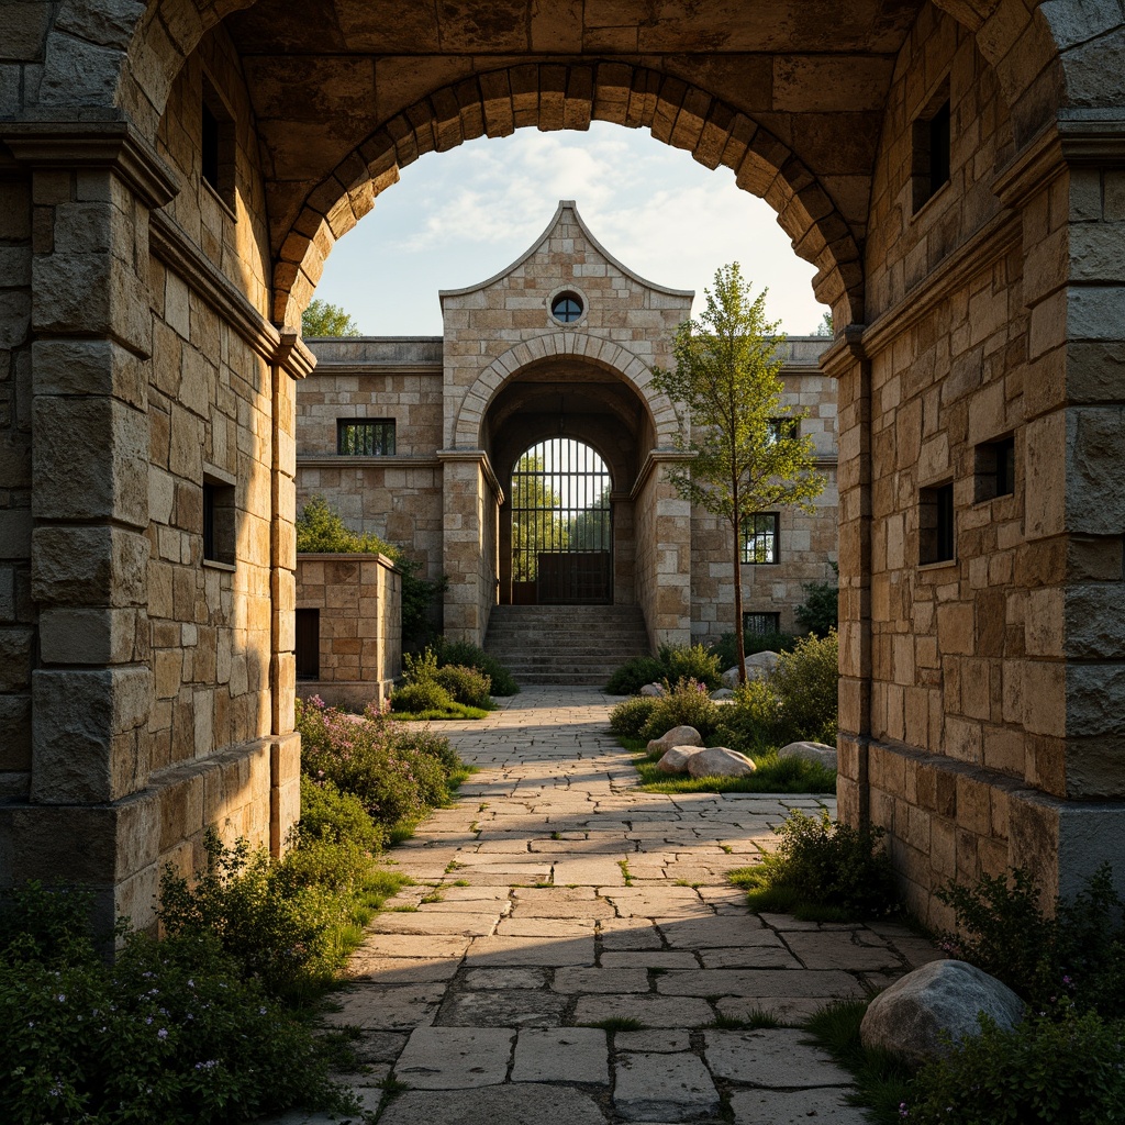
<path id="1" fill-rule="evenodd" d="M 817 267 L 813 289 L 840 323 L 863 318 L 864 273 L 852 227 L 800 156 L 750 117 L 682 79 L 621 62 L 529 63 L 435 90 L 390 118 L 306 198 L 280 238 L 273 320 L 297 325 L 336 240 L 398 170 L 428 152 L 516 128 L 584 129 L 592 120 L 649 128 L 706 168 L 726 165 L 765 199 L 793 250 Z"/>

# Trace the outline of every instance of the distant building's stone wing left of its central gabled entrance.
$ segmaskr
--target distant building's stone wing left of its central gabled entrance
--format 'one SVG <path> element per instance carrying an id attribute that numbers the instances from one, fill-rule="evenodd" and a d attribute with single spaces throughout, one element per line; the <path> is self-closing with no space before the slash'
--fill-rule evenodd
<path id="1" fill-rule="evenodd" d="M 316 370 L 297 385 L 297 505 L 323 496 L 371 532 L 442 574 L 441 340 L 317 340 Z M 393 418 L 394 457 L 336 453 L 336 422 Z"/>

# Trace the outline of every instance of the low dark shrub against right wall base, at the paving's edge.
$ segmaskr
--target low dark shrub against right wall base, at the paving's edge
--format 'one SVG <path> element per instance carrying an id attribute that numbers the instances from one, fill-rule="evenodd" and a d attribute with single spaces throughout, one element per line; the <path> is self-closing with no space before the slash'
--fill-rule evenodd
<path id="1" fill-rule="evenodd" d="M 863 920 L 899 909 L 884 830 L 810 817 L 793 810 L 777 829 L 781 843 L 757 867 L 745 868 L 752 910 L 827 910 L 821 918 Z"/>

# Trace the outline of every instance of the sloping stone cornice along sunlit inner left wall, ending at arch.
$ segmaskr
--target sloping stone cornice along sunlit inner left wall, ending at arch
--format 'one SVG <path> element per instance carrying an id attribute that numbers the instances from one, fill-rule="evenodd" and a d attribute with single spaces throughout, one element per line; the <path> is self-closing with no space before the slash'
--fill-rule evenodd
<path id="1" fill-rule="evenodd" d="M 304 379 L 316 367 L 316 357 L 299 333 L 295 328 L 279 332 L 163 212 L 153 212 L 150 217 L 148 245 L 154 256 L 173 270 L 268 363 L 276 363 L 295 379 Z"/>

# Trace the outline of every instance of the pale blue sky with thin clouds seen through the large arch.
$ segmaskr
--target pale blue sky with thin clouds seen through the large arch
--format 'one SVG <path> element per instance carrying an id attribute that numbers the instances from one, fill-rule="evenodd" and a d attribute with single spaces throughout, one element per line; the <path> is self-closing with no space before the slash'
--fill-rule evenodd
<path id="1" fill-rule="evenodd" d="M 429 153 L 333 250 L 316 296 L 342 305 L 366 335 L 440 335 L 439 289 L 483 281 L 574 199 L 594 236 L 641 277 L 694 289 L 738 261 L 790 335 L 816 330 L 825 307 L 813 268 L 792 251 L 773 210 L 647 130 L 595 122 L 588 133 L 518 129 Z"/>

